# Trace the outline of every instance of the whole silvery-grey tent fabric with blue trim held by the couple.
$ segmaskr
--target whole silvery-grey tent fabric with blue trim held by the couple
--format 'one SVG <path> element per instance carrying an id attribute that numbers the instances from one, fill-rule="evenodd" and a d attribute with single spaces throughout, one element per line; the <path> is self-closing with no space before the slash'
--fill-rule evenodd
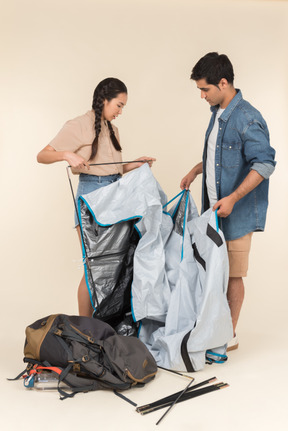
<path id="1" fill-rule="evenodd" d="M 226 244 L 189 192 L 167 207 L 147 165 L 81 196 L 86 282 L 95 317 L 126 335 L 140 324 L 159 366 L 197 371 L 225 358 L 233 336 Z"/>

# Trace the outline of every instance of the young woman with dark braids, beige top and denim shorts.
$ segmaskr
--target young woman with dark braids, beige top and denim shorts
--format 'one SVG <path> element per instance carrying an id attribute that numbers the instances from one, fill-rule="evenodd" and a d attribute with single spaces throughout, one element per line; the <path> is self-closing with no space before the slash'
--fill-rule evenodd
<path id="1" fill-rule="evenodd" d="M 93 95 L 92 110 L 64 124 L 55 138 L 37 156 L 39 163 L 65 160 L 74 174 L 79 174 L 76 199 L 117 181 L 123 173 L 143 164 L 151 167 L 156 159 L 140 157 L 134 163 L 90 166 L 96 163 L 121 162 L 121 146 L 117 127 L 111 124 L 127 103 L 127 88 L 116 78 L 101 81 Z M 75 214 L 75 226 L 81 244 L 80 226 Z M 93 308 L 83 275 L 78 288 L 80 316 L 91 316 Z"/>

